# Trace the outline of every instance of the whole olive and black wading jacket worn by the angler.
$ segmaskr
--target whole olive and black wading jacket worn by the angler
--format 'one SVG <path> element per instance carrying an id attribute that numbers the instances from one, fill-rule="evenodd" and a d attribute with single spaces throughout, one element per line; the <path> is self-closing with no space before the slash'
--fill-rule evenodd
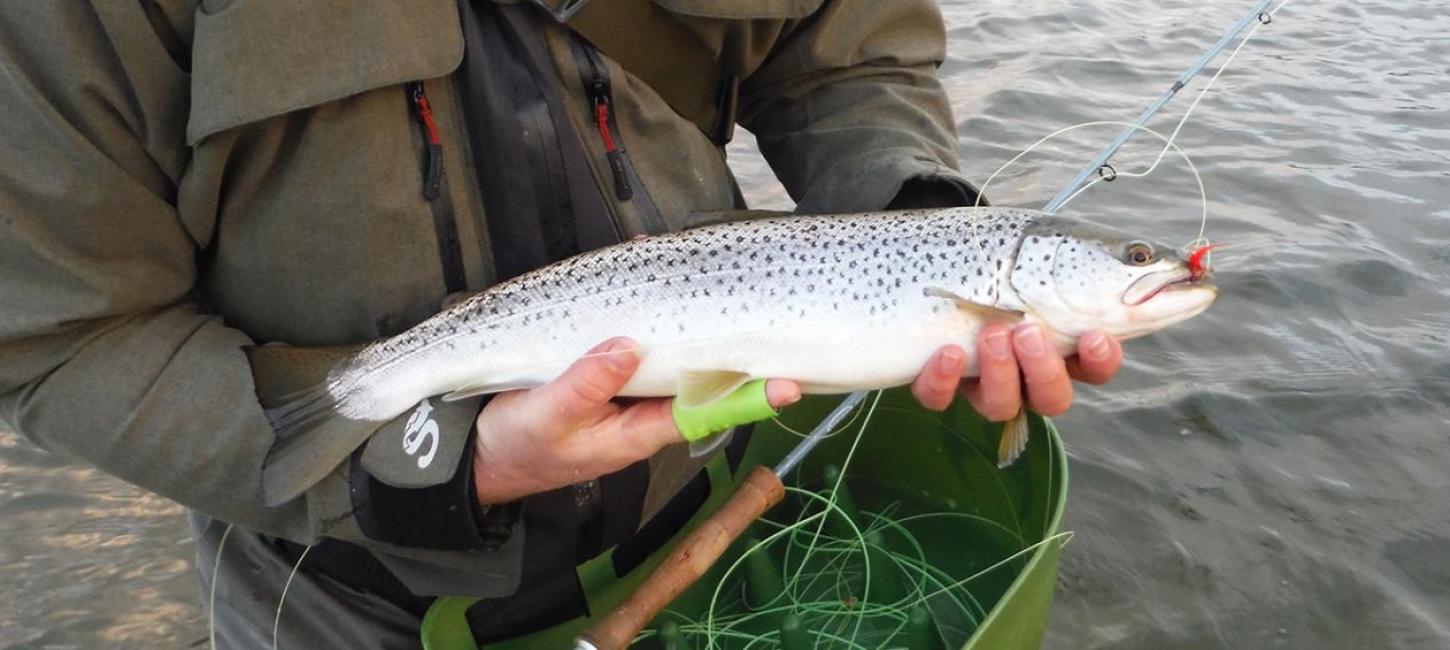
<path id="1" fill-rule="evenodd" d="M 650 1 L 673 36 L 731 58 L 725 113 L 800 212 L 969 192 L 929 1 Z M 428 406 L 426 441 L 407 414 L 371 464 L 264 508 L 268 377 L 244 354 L 394 335 L 451 293 L 742 207 L 719 133 L 532 4 L 0 4 L 0 421 L 246 530 L 362 546 L 416 593 L 510 593 L 528 535 L 518 508 L 470 505 L 478 402 Z M 419 445 L 429 470 L 412 476 Z M 613 532 L 577 525 L 597 553 L 697 469 L 671 448 L 563 501 L 587 521 L 628 498 Z"/>

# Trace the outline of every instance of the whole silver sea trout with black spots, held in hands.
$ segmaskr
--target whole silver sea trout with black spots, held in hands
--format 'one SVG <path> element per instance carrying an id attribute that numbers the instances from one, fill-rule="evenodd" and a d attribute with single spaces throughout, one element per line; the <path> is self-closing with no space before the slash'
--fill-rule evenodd
<path id="1" fill-rule="evenodd" d="M 634 239 L 500 283 L 336 363 L 268 409 L 278 431 L 264 501 L 320 480 L 419 400 L 541 386 L 593 345 L 629 337 L 624 396 L 699 406 L 753 379 L 806 393 L 911 383 L 947 344 L 995 321 L 1038 322 L 1067 355 L 1103 329 L 1140 337 L 1218 296 L 1198 257 L 1122 232 L 1000 207 L 792 216 Z M 252 348 L 264 363 L 268 347 Z M 1019 416 L 1002 461 L 1025 444 Z"/>

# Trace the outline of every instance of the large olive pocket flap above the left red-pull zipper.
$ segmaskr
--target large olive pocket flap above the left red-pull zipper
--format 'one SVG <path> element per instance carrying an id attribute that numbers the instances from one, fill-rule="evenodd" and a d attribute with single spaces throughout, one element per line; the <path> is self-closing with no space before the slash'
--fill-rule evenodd
<path id="1" fill-rule="evenodd" d="M 463 61 L 451 0 L 235 0 L 196 16 L 187 144 Z"/>

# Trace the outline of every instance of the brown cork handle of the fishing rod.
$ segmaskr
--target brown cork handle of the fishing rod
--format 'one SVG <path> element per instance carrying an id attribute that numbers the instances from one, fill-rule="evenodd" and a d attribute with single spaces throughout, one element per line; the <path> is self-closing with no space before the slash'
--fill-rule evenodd
<path id="1" fill-rule="evenodd" d="M 624 650 L 666 606 L 715 564 L 751 522 L 786 496 L 786 486 L 767 467 L 755 467 L 719 509 L 690 531 L 644 583 L 584 630 L 580 641 L 597 650 Z M 579 647 L 589 647 L 580 644 Z"/>

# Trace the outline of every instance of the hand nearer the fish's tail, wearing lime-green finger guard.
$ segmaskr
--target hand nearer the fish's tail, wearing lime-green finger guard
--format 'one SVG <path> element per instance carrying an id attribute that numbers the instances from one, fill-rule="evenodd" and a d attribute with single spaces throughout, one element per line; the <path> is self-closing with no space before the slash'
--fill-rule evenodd
<path id="1" fill-rule="evenodd" d="M 670 399 L 615 400 L 638 369 L 635 344 L 612 338 L 548 384 L 494 396 L 477 421 L 478 502 L 505 503 L 596 479 L 682 443 Z M 800 387 L 773 379 L 766 399 L 787 406 L 800 399 Z"/>

